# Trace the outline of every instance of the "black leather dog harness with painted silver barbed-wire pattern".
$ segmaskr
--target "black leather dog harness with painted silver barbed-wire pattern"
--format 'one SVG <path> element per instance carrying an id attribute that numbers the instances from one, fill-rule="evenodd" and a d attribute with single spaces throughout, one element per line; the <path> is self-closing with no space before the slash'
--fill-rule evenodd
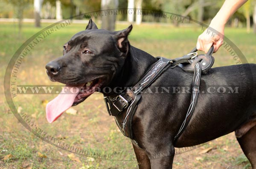
<path id="1" fill-rule="evenodd" d="M 115 121 L 122 134 L 128 138 L 134 140 L 134 133 L 132 128 L 132 119 L 138 107 L 138 102 L 141 98 L 141 92 L 149 87 L 166 69 L 175 68 L 179 66 L 186 72 L 194 73 L 192 81 L 192 96 L 186 117 L 180 126 L 180 130 L 175 135 L 174 140 L 182 134 L 188 125 L 192 114 L 195 110 L 195 105 L 198 99 L 199 87 L 201 82 L 201 73 L 207 73 L 214 63 L 212 53 L 214 51 L 213 46 L 210 48 L 207 54 L 198 55 L 197 49 L 194 48 L 191 53 L 176 59 L 166 59 L 163 57 L 157 57 L 155 62 L 148 71 L 145 73 L 142 79 L 137 82 L 133 87 L 122 90 L 116 96 L 105 96 L 104 101 L 109 115 L 114 116 Z"/>

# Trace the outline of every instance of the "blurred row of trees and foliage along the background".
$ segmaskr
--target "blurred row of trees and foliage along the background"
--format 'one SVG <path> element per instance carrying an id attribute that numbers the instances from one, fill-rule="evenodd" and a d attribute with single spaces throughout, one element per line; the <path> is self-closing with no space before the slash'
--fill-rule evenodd
<path id="1" fill-rule="evenodd" d="M 2 0 L 0 1 L 0 17 L 35 18 L 35 26 L 40 26 L 40 18 L 58 19 L 69 18 L 75 15 L 108 10 L 115 8 L 149 9 L 158 12 L 170 12 L 191 17 L 199 22 L 209 23 L 215 16 L 222 1 L 211 0 Z M 26 9 L 26 10 L 24 10 Z M 83 19 L 85 16 L 76 17 Z M 130 23 L 141 22 L 171 22 L 156 17 L 148 17 L 139 13 L 123 14 L 122 16 L 103 15 L 97 19 L 102 20 L 102 28 L 113 30 L 115 20 L 124 20 Z M 178 23 L 172 21 L 174 25 Z M 237 11 L 227 25 L 238 27 L 246 26 L 256 33 L 256 0 L 248 0 Z"/>

